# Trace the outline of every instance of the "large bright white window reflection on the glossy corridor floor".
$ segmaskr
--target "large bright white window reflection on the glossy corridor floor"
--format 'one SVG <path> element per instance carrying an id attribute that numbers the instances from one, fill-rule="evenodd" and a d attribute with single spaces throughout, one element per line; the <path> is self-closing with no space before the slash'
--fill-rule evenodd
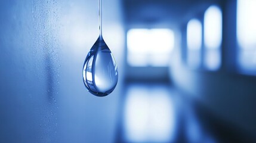
<path id="1" fill-rule="evenodd" d="M 124 121 L 128 142 L 171 142 L 175 136 L 175 113 L 168 91 L 129 89 Z"/>

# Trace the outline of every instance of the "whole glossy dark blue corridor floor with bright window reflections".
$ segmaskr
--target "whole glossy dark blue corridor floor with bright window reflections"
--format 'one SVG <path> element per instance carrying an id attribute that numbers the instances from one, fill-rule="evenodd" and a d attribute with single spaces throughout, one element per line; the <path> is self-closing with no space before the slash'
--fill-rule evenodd
<path id="1" fill-rule="evenodd" d="M 252 142 L 169 83 L 126 87 L 116 142 Z"/>

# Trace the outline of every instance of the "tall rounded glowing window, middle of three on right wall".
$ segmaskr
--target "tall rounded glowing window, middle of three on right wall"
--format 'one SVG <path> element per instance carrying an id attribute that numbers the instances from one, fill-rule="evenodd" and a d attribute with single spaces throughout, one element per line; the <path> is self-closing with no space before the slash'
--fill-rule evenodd
<path id="1" fill-rule="evenodd" d="M 205 11 L 204 17 L 204 64 L 209 70 L 217 70 L 221 65 L 220 47 L 222 41 L 222 13 L 219 7 L 212 5 Z"/>

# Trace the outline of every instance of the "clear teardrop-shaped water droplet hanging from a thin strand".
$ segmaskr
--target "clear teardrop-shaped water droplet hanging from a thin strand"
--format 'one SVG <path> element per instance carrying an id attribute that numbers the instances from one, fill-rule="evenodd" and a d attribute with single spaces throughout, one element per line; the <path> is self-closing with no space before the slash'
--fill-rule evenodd
<path id="1" fill-rule="evenodd" d="M 88 91 L 97 97 L 109 95 L 118 83 L 118 66 L 101 36 L 85 58 L 83 77 Z"/>

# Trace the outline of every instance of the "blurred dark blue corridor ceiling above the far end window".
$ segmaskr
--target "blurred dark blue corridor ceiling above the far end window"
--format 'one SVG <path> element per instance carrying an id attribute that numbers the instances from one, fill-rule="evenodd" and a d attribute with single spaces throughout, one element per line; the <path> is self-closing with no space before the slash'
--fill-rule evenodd
<path id="1" fill-rule="evenodd" d="M 123 0 L 127 27 L 177 27 L 218 0 Z"/>

